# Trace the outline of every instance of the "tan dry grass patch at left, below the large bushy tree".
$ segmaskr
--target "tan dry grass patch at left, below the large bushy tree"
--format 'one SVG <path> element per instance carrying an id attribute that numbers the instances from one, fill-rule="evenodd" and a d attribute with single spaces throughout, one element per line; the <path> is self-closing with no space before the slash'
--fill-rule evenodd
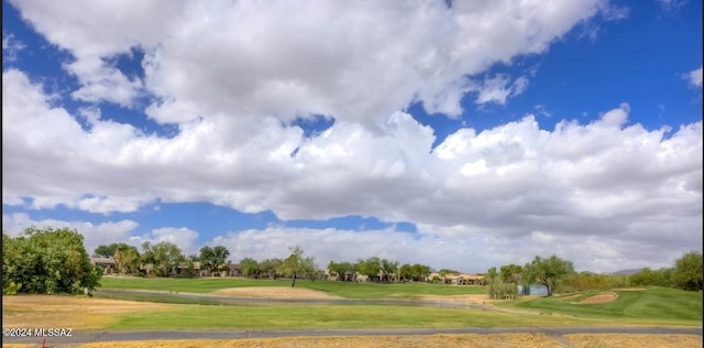
<path id="1" fill-rule="evenodd" d="M 167 304 L 62 295 L 2 296 L 2 327 L 103 328 L 116 315 L 170 307 Z"/>

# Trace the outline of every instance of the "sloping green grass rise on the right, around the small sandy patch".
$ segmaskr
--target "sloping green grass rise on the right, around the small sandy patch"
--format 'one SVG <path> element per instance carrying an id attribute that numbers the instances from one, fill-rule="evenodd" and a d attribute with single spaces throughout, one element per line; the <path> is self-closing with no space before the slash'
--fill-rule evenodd
<path id="1" fill-rule="evenodd" d="M 529 301 L 495 303 L 507 308 L 527 308 L 543 314 L 560 313 L 584 318 L 610 318 L 640 324 L 669 323 L 670 325 L 702 325 L 702 294 L 668 287 L 644 291 L 619 291 L 613 302 L 579 304 L 598 292 L 586 292 L 576 297 L 543 297 Z"/>

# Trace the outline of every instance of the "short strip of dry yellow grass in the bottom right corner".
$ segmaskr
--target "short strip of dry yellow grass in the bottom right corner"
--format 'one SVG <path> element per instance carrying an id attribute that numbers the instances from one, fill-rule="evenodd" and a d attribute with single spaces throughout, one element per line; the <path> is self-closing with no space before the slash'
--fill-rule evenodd
<path id="1" fill-rule="evenodd" d="M 619 348 L 701 348 L 702 336 L 697 335 L 622 335 L 622 334 L 572 334 L 564 335 L 576 348 L 619 347 Z"/>

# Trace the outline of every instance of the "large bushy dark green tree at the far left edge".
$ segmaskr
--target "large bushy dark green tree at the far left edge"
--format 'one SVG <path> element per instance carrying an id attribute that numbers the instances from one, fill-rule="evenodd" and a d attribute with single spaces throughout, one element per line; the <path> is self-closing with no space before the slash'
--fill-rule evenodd
<path id="1" fill-rule="evenodd" d="M 2 292 L 81 293 L 99 286 L 84 237 L 68 228 L 30 227 L 16 238 L 2 236 Z"/>

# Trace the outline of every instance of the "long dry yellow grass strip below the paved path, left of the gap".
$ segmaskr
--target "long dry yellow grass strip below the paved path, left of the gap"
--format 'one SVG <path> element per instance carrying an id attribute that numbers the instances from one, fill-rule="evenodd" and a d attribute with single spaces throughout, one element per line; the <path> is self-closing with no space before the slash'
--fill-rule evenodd
<path id="1" fill-rule="evenodd" d="M 440 347 L 562 347 L 559 342 L 543 334 L 439 334 L 439 335 L 384 335 L 384 336 L 332 336 L 332 337 L 282 337 L 282 338 L 243 338 L 230 340 L 153 340 L 143 342 L 100 342 L 86 344 L 80 348 L 206 348 L 206 347 L 267 347 L 267 348 L 440 348 Z"/>

